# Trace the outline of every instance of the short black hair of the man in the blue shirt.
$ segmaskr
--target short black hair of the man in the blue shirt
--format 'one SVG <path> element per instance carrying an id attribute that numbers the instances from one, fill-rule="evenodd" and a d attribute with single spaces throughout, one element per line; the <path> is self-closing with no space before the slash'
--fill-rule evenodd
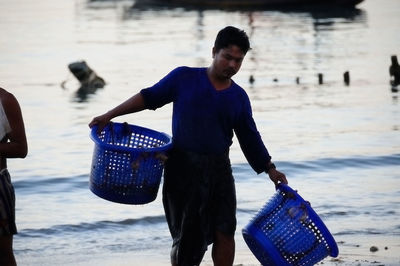
<path id="1" fill-rule="evenodd" d="M 227 48 L 229 45 L 238 46 L 244 54 L 250 50 L 249 37 L 246 32 L 233 26 L 227 26 L 218 32 L 214 48 L 218 52 L 220 49 Z"/>

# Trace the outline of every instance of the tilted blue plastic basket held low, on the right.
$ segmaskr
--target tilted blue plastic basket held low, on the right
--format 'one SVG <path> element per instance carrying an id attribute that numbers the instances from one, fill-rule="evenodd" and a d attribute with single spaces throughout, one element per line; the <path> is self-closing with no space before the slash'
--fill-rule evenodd
<path id="1" fill-rule="evenodd" d="M 335 239 L 309 202 L 284 184 L 277 186 L 242 233 L 262 265 L 314 265 L 339 254 Z"/>

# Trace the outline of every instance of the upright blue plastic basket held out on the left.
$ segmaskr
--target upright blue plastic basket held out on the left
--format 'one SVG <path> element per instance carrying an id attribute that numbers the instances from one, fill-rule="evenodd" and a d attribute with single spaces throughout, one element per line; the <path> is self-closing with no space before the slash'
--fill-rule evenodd
<path id="1" fill-rule="evenodd" d="M 95 143 L 90 190 L 118 203 L 145 204 L 156 199 L 171 137 L 165 133 L 127 123 L 110 123 Z"/>

